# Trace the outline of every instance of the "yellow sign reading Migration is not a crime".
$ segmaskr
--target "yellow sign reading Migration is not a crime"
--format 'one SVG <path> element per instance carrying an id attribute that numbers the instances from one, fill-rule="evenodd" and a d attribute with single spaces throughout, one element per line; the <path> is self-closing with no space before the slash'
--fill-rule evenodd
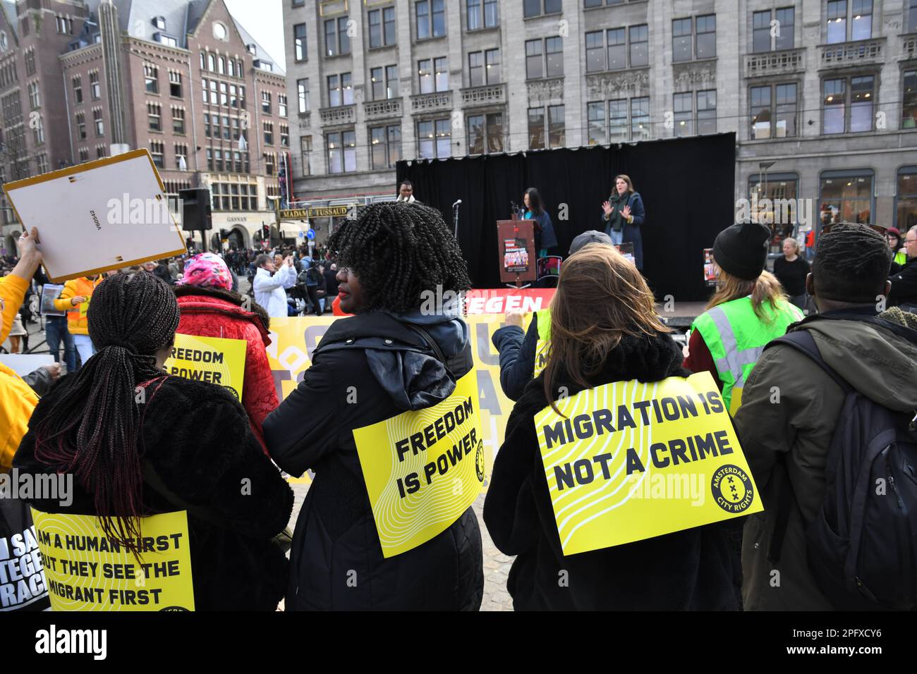
<path id="1" fill-rule="evenodd" d="M 536 414 L 565 555 L 763 510 L 709 372 L 617 381 Z"/>

